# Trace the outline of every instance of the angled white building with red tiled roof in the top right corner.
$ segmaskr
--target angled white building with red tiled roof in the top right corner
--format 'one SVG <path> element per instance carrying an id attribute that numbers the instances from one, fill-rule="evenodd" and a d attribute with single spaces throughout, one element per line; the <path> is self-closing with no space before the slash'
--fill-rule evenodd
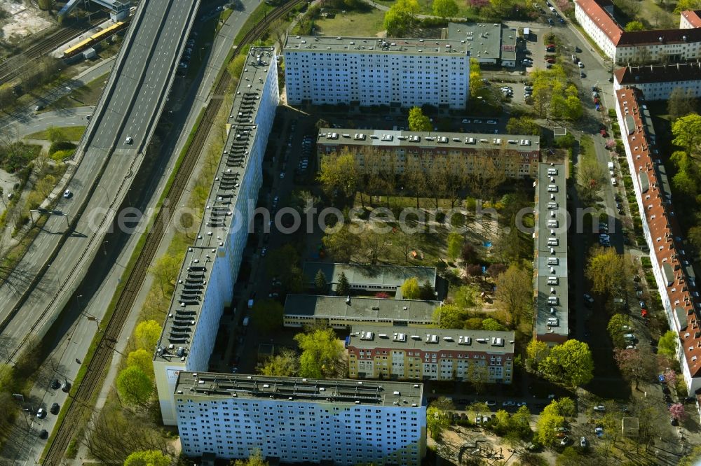
<path id="1" fill-rule="evenodd" d="M 575 0 L 577 21 L 616 64 L 674 63 L 701 58 L 701 29 L 694 25 L 698 24 L 694 12 L 681 13 L 682 29 L 625 31 L 615 20 L 614 11 L 611 0 Z"/>

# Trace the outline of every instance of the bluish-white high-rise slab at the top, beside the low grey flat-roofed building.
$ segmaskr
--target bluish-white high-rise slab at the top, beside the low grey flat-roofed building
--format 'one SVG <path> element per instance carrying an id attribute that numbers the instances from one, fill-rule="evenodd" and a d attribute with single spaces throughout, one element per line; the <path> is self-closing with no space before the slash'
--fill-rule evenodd
<path id="1" fill-rule="evenodd" d="M 465 41 L 288 36 L 290 104 L 464 109 L 470 88 Z"/>

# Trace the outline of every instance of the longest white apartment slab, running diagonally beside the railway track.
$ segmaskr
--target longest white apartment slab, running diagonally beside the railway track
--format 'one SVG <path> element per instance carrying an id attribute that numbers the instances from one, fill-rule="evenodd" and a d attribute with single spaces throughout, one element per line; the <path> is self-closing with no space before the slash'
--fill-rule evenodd
<path id="1" fill-rule="evenodd" d="M 227 122 L 229 135 L 203 223 L 188 248 L 154 355 L 165 425 L 175 425 L 180 371 L 205 371 L 233 285 L 262 182 L 261 162 L 275 118 L 278 73 L 273 48 L 251 48 Z"/>

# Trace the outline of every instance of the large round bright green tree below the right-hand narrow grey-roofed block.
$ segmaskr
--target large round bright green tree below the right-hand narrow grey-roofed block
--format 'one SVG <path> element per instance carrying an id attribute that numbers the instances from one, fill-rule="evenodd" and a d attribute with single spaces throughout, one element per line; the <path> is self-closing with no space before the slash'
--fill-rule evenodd
<path id="1" fill-rule="evenodd" d="M 552 347 L 539 368 L 546 379 L 569 387 L 583 386 L 594 376 L 589 345 L 577 340 Z"/>

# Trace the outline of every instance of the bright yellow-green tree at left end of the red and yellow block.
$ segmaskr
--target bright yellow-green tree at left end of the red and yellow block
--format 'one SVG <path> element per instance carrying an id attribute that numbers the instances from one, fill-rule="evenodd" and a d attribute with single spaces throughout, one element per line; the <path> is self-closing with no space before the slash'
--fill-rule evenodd
<path id="1" fill-rule="evenodd" d="M 302 353 L 299 357 L 299 376 L 330 379 L 339 373 L 343 359 L 343 345 L 334 330 L 316 329 L 294 336 Z"/>

